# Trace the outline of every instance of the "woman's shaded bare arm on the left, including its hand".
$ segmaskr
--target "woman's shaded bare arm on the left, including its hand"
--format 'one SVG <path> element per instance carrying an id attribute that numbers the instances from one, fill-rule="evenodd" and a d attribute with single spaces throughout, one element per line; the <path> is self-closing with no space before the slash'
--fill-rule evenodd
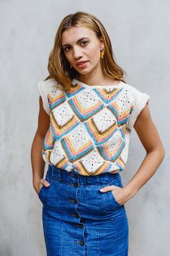
<path id="1" fill-rule="evenodd" d="M 45 161 L 42 158 L 42 142 L 50 126 L 50 116 L 48 116 L 42 106 L 41 97 L 39 99 L 39 103 L 40 111 L 38 115 L 37 132 L 35 133 L 31 148 L 32 184 L 37 194 L 40 191 L 42 184 L 45 186 L 48 185 L 48 182 L 45 181 L 45 179 L 42 179 L 45 168 Z"/>

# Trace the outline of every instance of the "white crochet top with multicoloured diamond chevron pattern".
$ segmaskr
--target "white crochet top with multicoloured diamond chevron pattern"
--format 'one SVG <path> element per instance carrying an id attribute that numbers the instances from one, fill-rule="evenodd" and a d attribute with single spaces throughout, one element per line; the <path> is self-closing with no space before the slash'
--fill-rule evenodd
<path id="1" fill-rule="evenodd" d="M 130 133 L 149 95 L 122 81 L 86 85 L 76 79 L 66 92 L 54 78 L 39 82 L 38 91 L 50 116 L 46 163 L 86 176 L 125 168 Z"/>

